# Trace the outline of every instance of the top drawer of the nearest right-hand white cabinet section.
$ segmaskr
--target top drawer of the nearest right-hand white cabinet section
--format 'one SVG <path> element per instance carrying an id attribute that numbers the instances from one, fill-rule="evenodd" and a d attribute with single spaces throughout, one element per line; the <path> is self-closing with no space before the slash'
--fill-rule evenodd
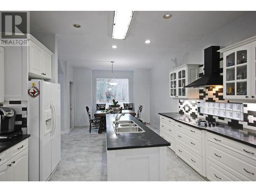
<path id="1" fill-rule="evenodd" d="M 208 141 L 217 143 L 221 146 L 224 146 L 226 148 L 229 148 L 230 150 L 240 153 L 246 157 L 249 157 L 253 160 L 256 160 L 256 148 L 248 146 L 246 144 L 233 141 L 231 139 L 207 132 L 206 133 L 206 139 Z"/>

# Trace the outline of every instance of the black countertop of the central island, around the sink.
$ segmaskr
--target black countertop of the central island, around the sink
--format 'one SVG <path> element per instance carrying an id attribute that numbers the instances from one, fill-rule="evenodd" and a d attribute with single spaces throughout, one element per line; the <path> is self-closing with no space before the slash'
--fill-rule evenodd
<path id="1" fill-rule="evenodd" d="M 116 114 L 106 115 L 106 146 L 108 150 L 124 150 L 127 148 L 169 146 L 170 143 L 137 120 L 130 114 L 125 114 L 120 120 L 133 120 L 145 132 L 116 134 L 112 121 Z"/>

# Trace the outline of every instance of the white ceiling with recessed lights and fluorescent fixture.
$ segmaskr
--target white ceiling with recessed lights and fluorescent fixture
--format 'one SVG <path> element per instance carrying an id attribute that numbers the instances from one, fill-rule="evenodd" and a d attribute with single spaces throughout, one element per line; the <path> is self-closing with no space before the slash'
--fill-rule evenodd
<path id="1" fill-rule="evenodd" d="M 115 70 L 134 70 L 170 62 L 175 52 L 244 14 L 170 11 L 173 16 L 164 19 L 167 12 L 136 11 L 125 40 L 111 38 L 114 11 L 33 11 L 31 32 L 56 33 L 59 58 L 73 66 L 110 70 L 113 60 Z M 145 45 L 146 39 L 150 45 Z"/>

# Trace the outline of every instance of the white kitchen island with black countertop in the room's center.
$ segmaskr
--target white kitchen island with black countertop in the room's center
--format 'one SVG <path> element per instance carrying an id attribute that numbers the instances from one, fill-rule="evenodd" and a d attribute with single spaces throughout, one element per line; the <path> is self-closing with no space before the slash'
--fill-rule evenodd
<path id="1" fill-rule="evenodd" d="M 132 121 L 142 131 L 116 133 L 115 116 L 106 115 L 108 181 L 165 181 L 166 146 L 170 143 L 130 114 L 122 116 L 120 122 Z"/>

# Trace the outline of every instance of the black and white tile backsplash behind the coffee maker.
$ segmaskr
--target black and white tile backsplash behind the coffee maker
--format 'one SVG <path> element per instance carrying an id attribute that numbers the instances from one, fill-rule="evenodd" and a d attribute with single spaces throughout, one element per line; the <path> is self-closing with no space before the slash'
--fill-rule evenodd
<path id="1" fill-rule="evenodd" d="M 6 106 L 16 111 L 15 130 L 27 134 L 27 101 L 5 101 L 0 106 Z"/>

